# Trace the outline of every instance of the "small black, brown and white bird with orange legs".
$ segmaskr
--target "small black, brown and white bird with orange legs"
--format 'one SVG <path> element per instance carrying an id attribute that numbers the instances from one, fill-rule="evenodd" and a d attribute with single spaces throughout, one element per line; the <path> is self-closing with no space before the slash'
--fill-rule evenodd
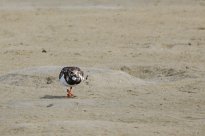
<path id="1" fill-rule="evenodd" d="M 59 81 L 67 88 L 67 97 L 75 97 L 72 88 L 84 80 L 84 72 L 75 66 L 63 67 L 59 74 Z"/>

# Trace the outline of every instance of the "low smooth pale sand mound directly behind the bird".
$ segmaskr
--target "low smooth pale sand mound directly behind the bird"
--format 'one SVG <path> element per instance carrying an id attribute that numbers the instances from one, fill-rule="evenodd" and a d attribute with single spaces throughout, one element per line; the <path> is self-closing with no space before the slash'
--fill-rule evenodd
<path id="1" fill-rule="evenodd" d="M 47 66 L 17 70 L 0 76 L 0 83 L 41 88 L 52 84 L 58 87 L 58 75 L 61 68 L 61 66 Z M 90 86 L 119 87 L 145 83 L 143 80 L 121 71 L 100 68 L 83 68 L 83 70 L 88 75 L 86 84 Z"/>

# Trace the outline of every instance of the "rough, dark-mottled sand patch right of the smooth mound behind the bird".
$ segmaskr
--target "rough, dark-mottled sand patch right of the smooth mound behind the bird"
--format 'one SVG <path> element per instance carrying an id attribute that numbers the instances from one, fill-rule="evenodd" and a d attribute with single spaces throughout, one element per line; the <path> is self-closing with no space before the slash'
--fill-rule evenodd
<path id="1" fill-rule="evenodd" d="M 170 82 L 186 78 L 195 78 L 189 68 L 172 68 L 163 66 L 122 66 L 120 70 L 143 80 Z"/>

